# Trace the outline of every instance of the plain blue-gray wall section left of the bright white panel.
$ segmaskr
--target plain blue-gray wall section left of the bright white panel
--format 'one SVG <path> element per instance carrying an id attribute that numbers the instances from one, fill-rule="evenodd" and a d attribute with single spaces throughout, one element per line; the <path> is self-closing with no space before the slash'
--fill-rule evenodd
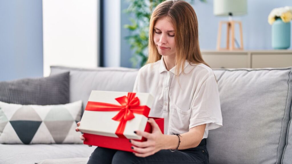
<path id="1" fill-rule="evenodd" d="M 0 81 L 43 76 L 41 0 L 0 0 Z"/>

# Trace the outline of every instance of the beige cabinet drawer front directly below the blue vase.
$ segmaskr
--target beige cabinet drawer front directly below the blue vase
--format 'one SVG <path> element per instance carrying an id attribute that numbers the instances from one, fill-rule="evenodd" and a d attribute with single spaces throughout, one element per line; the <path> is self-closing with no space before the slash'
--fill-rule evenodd
<path id="1" fill-rule="evenodd" d="M 252 68 L 282 68 L 292 66 L 292 54 L 252 55 Z"/>

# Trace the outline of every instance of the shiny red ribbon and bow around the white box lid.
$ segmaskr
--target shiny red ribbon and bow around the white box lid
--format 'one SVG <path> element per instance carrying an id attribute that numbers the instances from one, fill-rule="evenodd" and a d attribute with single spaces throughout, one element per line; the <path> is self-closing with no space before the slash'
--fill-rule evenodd
<path id="1" fill-rule="evenodd" d="M 126 138 L 123 133 L 128 120 L 133 119 L 134 113 L 143 114 L 144 116 L 149 115 L 150 108 L 146 105 L 140 106 L 140 100 L 135 97 L 136 93 L 128 93 L 128 96 L 115 98 L 121 105 L 103 103 L 103 102 L 92 102 L 88 101 L 85 110 L 86 111 L 119 111 L 119 113 L 112 119 L 120 121 L 119 126 L 115 134 L 119 138 Z"/>

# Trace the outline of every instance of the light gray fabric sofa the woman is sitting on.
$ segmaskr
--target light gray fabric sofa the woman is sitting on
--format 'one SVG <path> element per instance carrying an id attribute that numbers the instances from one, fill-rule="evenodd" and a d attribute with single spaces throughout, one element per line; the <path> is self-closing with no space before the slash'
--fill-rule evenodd
<path id="1" fill-rule="evenodd" d="M 91 90 L 133 89 L 138 69 L 81 69 L 52 66 L 51 74 L 70 71 L 70 102 L 85 107 Z M 292 163 L 292 67 L 214 69 L 223 127 L 210 130 L 210 164 Z M 86 163 L 93 147 L 80 144 L 0 144 L 0 163 Z M 60 159 L 62 158 L 62 159 Z"/>

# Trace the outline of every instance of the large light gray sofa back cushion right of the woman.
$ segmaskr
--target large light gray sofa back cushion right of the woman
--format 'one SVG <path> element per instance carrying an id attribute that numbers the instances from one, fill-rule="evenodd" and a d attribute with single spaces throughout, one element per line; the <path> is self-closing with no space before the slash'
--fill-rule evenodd
<path id="1" fill-rule="evenodd" d="M 223 127 L 209 131 L 210 164 L 281 163 L 291 113 L 291 71 L 214 69 Z"/>

